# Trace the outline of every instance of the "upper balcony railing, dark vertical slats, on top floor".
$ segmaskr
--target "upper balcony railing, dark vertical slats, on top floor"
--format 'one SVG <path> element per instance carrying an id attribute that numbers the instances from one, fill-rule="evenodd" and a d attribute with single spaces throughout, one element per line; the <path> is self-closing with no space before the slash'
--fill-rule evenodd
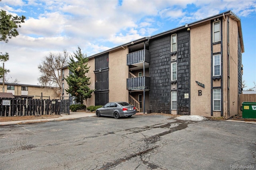
<path id="1" fill-rule="evenodd" d="M 150 63 L 150 51 L 142 49 L 140 51 L 127 54 L 127 65 L 142 63 L 143 61 Z"/>

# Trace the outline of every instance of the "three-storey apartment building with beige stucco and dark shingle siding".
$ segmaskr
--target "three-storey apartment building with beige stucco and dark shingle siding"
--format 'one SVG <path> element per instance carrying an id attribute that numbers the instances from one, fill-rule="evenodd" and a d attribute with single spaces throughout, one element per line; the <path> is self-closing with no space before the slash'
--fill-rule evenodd
<path id="1" fill-rule="evenodd" d="M 231 117 L 242 93 L 241 22 L 227 11 L 89 57 L 88 105 L 127 101 L 144 113 Z M 68 88 L 62 68 L 62 98 Z"/>

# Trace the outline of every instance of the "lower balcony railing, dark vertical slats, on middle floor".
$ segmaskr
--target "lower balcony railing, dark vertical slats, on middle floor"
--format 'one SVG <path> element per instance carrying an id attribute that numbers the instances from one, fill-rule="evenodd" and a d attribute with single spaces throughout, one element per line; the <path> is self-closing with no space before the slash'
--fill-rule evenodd
<path id="1" fill-rule="evenodd" d="M 127 79 L 128 90 L 143 90 L 150 88 L 149 77 L 134 77 Z"/>

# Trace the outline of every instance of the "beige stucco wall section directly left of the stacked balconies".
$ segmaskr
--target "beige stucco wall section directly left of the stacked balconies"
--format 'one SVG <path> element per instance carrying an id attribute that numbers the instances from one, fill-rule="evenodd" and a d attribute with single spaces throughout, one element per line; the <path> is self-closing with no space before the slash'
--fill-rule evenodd
<path id="1" fill-rule="evenodd" d="M 128 66 L 126 65 L 127 49 L 119 48 L 109 53 L 109 101 L 128 102 L 126 78 Z"/>

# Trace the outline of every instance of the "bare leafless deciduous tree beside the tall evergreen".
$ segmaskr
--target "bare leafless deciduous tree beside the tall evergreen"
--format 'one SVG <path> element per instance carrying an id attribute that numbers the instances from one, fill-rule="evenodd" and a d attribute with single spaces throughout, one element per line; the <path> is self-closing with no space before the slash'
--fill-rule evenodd
<path id="1" fill-rule="evenodd" d="M 60 68 L 67 65 L 68 53 L 63 50 L 61 53 L 54 54 L 50 53 L 44 57 L 44 61 L 38 65 L 38 69 L 41 73 L 38 81 L 42 86 L 57 87 L 56 95 L 60 96 L 60 89 L 62 86 L 62 73 Z"/>

